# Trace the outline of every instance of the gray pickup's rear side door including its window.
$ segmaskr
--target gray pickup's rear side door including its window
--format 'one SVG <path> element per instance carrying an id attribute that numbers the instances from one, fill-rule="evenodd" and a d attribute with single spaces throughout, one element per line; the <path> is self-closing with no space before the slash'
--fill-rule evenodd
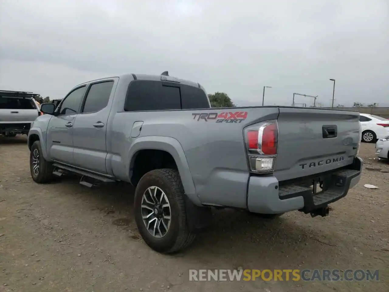
<path id="1" fill-rule="evenodd" d="M 118 78 L 91 83 L 73 126 L 74 165 L 107 174 L 107 122 Z"/>

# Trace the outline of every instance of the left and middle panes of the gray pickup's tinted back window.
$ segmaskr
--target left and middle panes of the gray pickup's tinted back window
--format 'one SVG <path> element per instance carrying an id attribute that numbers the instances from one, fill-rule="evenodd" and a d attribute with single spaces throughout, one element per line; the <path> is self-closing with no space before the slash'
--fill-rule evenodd
<path id="1" fill-rule="evenodd" d="M 180 88 L 159 81 L 136 80 L 128 87 L 125 111 L 181 109 Z"/>

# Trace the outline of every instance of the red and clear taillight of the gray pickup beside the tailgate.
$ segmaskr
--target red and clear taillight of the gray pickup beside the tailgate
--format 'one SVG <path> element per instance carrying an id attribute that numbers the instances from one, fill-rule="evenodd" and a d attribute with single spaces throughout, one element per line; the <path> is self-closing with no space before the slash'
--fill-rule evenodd
<path id="1" fill-rule="evenodd" d="M 244 129 L 249 170 L 272 173 L 278 151 L 277 120 L 263 121 Z"/>

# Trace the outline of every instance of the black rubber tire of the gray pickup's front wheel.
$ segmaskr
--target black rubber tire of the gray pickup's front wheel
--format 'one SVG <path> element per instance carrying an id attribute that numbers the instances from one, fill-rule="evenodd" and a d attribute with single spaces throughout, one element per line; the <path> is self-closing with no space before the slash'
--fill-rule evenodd
<path id="1" fill-rule="evenodd" d="M 38 151 L 38 172 L 34 172 L 35 166 L 35 151 Z M 35 155 L 35 156 L 34 156 Z M 40 146 L 40 141 L 35 141 L 31 146 L 30 151 L 30 172 L 31 177 L 36 183 L 48 183 L 53 179 L 53 164 L 51 162 L 47 162 L 42 155 L 42 147 Z"/>

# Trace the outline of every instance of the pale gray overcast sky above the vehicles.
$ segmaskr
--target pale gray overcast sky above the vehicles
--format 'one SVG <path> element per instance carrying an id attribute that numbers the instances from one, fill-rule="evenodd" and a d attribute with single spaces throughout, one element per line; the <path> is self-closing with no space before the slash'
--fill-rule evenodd
<path id="1" fill-rule="evenodd" d="M 62 98 L 123 73 L 226 92 L 240 106 L 389 106 L 388 0 L 1 0 L 0 89 Z M 296 102 L 312 104 L 309 97 Z"/>

